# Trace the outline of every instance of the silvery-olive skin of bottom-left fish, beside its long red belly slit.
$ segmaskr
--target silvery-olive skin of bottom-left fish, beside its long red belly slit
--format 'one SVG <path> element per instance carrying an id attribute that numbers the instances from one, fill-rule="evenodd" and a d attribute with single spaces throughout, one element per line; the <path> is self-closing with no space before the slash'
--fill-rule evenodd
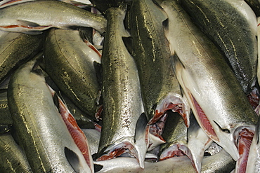
<path id="1" fill-rule="evenodd" d="M 13 127 L 32 171 L 90 172 L 58 113 L 44 76 L 32 70 L 34 64 L 35 60 L 27 62 L 15 71 L 8 85 Z"/>

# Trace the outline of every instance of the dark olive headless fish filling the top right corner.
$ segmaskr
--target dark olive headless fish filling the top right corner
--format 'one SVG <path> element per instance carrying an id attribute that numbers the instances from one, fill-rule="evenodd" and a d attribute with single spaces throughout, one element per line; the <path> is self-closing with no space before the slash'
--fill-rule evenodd
<path id="1" fill-rule="evenodd" d="M 256 15 L 245 1 L 181 0 L 191 18 L 227 58 L 246 94 L 256 78 Z"/>

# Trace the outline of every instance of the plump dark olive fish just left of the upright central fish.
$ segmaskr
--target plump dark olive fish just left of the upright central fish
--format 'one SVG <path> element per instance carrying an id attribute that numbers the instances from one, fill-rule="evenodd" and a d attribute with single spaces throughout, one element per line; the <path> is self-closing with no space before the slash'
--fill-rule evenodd
<path id="1" fill-rule="evenodd" d="M 96 119 L 100 87 L 94 62 L 100 57 L 78 31 L 51 29 L 44 46 L 44 70 L 74 104 Z"/>

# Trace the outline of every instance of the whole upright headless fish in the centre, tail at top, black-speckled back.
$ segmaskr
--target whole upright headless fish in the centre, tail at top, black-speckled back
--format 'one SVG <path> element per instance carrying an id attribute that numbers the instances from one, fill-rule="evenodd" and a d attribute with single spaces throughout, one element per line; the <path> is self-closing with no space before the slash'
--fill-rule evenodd
<path id="1" fill-rule="evenodd" d="M 101 59 L 104 114 L 98 155 L 129 148 L 143 167 L 147 146 L 137 144 L 143 139 L 135 143 L 134 137 L 144 109 L 137 67 L 122 39 L 130 36 L 124 28 L 124 6 L 108 8 L 105 16 L 108 27 Z"/>

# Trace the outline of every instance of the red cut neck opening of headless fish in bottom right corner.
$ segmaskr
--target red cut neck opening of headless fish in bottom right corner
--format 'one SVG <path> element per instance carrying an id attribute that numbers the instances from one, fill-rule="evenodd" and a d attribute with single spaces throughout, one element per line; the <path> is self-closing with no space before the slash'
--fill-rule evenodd
<path id="1" fill-rule="evenodd" d="M 235 172 L 246 172 L 247 160 L 249 156 L 250 146 L 254 137 L 254 130 L 250 127 L 239 127 L 235 131 L 234 139 L 238 148 L 240 158 L 236 162 Z"/>

